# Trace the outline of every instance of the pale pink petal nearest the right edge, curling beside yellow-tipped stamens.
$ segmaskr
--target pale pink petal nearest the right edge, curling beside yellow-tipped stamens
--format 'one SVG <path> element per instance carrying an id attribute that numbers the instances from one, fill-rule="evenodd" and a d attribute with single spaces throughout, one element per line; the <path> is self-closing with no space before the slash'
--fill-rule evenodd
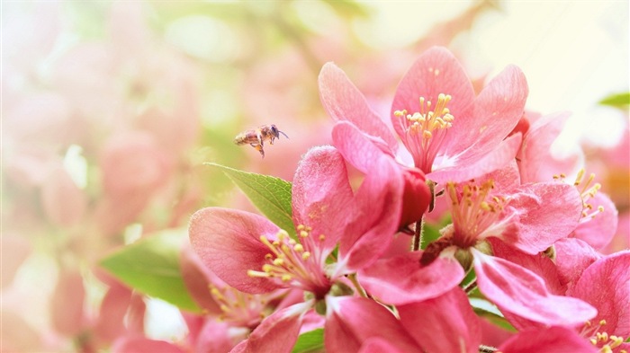
<path id="1" fill-rule="evenodd" d="M 598 192 L 587 202 L 594 210 L 601 206 L 604 207 L 604 211 L 586 218 L 588 220 L 582 219 L 572 236 L 589 243 L 595 250 L 601 250 L 610 243 L 617 232 L 619 213 L 613 201 L 602 192 Z"/>

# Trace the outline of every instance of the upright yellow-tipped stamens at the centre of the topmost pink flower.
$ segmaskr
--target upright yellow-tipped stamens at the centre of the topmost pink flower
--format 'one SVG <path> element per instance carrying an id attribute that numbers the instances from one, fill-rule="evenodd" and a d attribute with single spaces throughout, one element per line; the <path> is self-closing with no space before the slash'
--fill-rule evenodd
<path id="1" fill-rule="evenodd" d="M 440 93 L 437 104 L 425 97 L 419 99 L 419 111 L 410 114 L 407 110 L 396 110 L 394 116 L 400 118 L 405 131 L 403 142 L 413 154 L 414 163 L 422 172 L 431 172 L 439 147 L 446 137 L 446 129 L 453 126 L 455 117 L 446 108 L 451 96 Z"/>

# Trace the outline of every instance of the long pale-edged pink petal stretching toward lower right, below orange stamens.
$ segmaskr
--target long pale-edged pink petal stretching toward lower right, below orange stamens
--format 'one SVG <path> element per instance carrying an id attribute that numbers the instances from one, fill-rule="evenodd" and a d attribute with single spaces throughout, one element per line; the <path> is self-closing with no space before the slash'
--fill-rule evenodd
<path id="1" fill-rule="evenodd" d="M 501 311 L 546 325 L 577 326 L 592 319 L 597 310 L 568 296 L 554 296 L 542 278 L 507 260 L 471 248 L 477 284 Z"/>

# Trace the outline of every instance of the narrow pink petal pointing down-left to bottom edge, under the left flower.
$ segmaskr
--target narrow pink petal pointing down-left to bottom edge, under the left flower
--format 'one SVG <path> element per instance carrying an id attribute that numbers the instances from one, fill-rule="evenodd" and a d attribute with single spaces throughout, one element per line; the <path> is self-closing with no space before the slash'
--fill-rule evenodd
<path id="1" fill-rule="evenodd" d="M 311 309 L 312 301 L 294 304 L 268 316 L 245 342 L 232 352 L 291 352 L 298 339 L 302 318 Z"/>

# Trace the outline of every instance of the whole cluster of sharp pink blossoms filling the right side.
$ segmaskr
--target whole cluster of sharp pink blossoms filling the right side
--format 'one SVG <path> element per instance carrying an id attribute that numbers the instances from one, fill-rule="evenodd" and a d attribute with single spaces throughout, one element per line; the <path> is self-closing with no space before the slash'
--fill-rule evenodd
<path id="1" fill-rule="evenodd" d="M 453 54 L 428 49 L 398 86 L 393 133 L 338 66 L 319 84 L 334 146 L 295 172 L 294 228 L 222 207 L 191 219 L 220 278 L 206 296 L 247 330 L 232 352 L 290 352 L 317 329 L 330 352 L 628 350 L 630 252 L 599 252 L 617 210 L 594 176 L 568 181 L 579 158 L 549 156 L 566 115 L 527 111 L 518 67 L 475 93 Z"/>

